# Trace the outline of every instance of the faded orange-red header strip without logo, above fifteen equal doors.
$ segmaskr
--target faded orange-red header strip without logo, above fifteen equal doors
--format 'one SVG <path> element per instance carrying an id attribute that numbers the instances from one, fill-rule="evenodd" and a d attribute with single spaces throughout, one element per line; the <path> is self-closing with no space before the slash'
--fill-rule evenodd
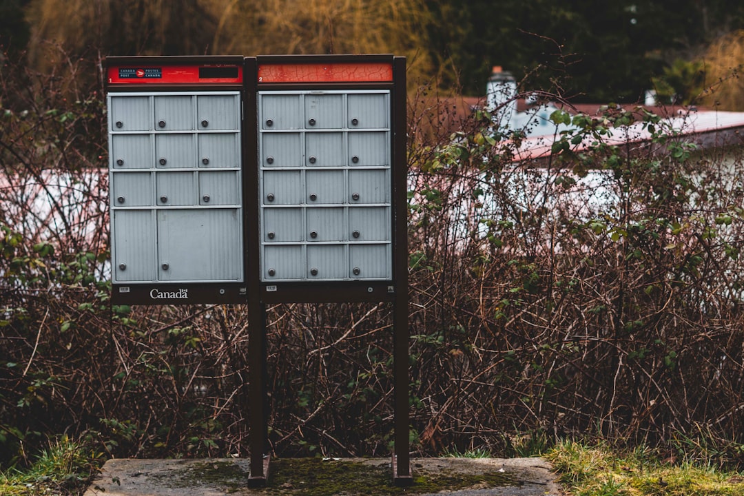
<path id="1" fill-rule="evenodd" d="M 268 63 L 258 66 L 259 83 L 380 83 L 393 80 L 387 62 Z"/>

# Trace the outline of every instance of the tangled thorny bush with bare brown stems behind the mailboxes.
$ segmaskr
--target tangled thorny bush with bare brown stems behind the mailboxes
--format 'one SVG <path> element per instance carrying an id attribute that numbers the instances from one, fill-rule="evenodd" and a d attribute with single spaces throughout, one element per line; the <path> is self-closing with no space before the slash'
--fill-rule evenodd
<path id="1" fill-rule="evenodd" d="M 0 463 L 62 432 L 118 457 L 246 456 L 245 307 L 110 305 L 100 81 L 4 63 Z M 571 130 L 528 158 L 485 112 L 412 95 L 408 116 L 413 449 L 705 433 L 742 462 L 741 144 L 609 107 L 555 113 Z M 387 455 L 388 304 L 268 321 L 274 451 Z"/>

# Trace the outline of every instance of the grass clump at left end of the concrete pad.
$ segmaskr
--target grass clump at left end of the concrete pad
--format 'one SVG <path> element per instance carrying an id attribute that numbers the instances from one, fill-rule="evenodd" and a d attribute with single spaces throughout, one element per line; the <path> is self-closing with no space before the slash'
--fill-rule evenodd
<path id="1" fill-rule="evenodd" d="M 97 458 L 83 443 L 67 437 L 54 439 L 28 468 L 0 471 L 0 495 L 82 494 L 95 471 Z"/>

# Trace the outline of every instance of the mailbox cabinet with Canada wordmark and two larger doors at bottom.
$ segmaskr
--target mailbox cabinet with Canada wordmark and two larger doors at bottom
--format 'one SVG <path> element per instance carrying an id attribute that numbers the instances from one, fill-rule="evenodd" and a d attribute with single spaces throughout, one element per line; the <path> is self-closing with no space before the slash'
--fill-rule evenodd
<path id="1" fill-rule="evenodd" d="M 109 57 L 112 302 L 244 303 L 243 57 Z"/>

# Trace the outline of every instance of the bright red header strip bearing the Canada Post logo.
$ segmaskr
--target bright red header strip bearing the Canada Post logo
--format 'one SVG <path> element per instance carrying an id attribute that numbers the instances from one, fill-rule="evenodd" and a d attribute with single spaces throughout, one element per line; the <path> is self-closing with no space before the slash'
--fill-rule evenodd
<path id="1" fill-rule="evenodd" d="M 109 84 L 240 84 L 240 64 L 202 65 L 113 65 L 107 74 Z"/>

